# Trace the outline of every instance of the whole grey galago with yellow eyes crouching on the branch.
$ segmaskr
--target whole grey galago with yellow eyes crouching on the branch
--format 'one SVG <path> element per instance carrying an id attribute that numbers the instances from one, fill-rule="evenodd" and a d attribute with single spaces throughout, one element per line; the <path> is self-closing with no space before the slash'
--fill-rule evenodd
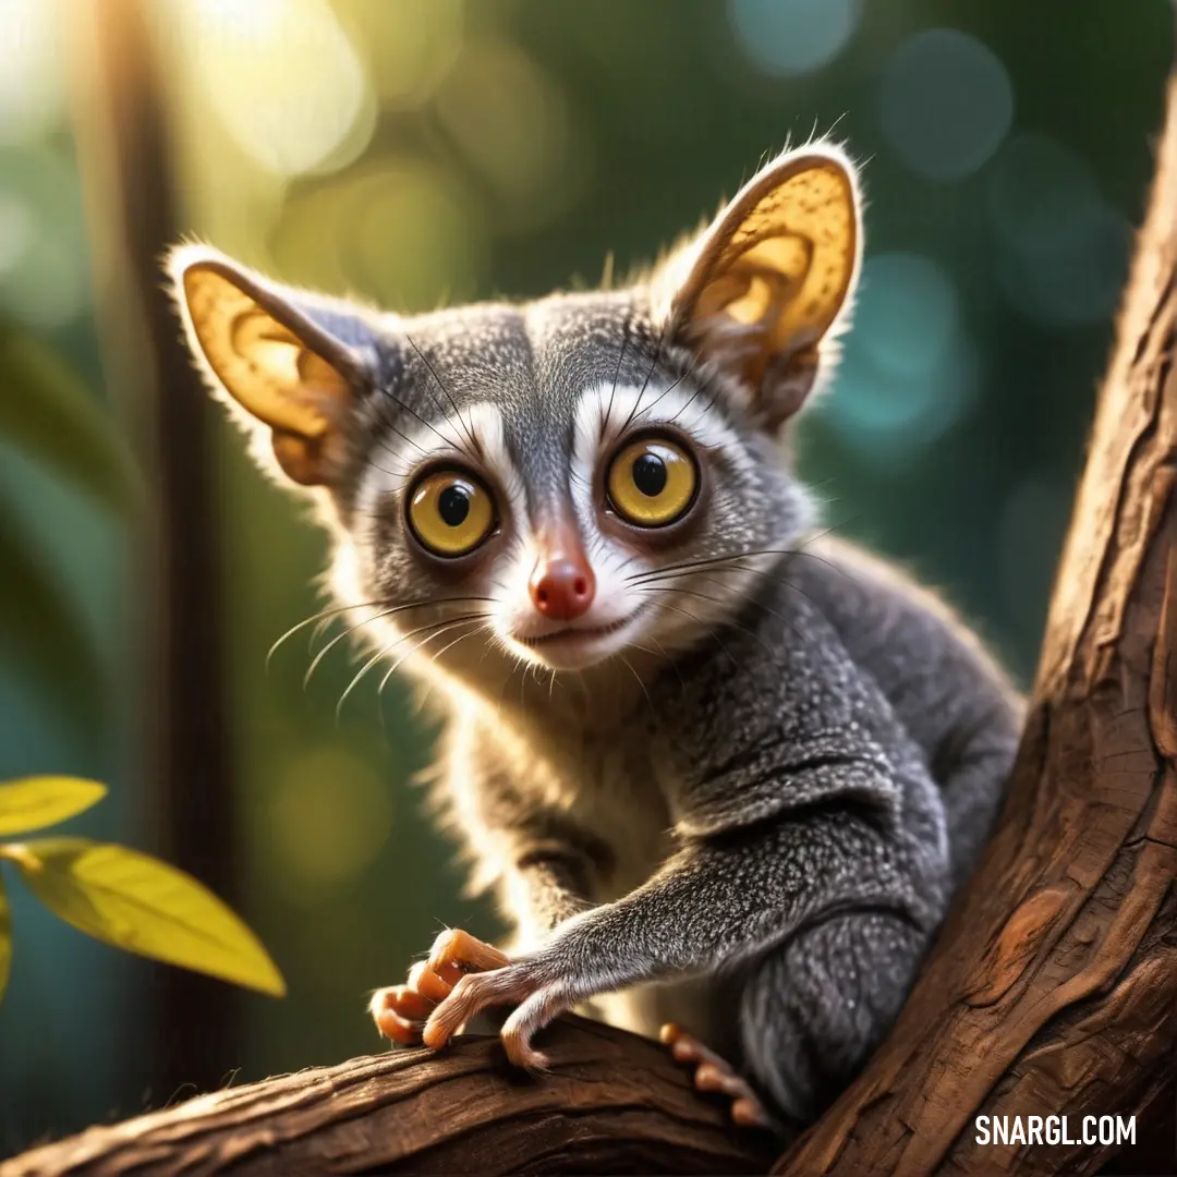
<path id="1" fill-rule="evenodd" d="M 513 1005 L 538 1066 L 565 1010 L 672 1022 L 700 1085 L 782 1123 L 902 1005 L 1020 704 L 933 597 L 820 533 L 782 455 L 859 247 L 852 165 L 812 145 L 624 291 L 406 319 L 173 255 L 214 390 L 322 508 L 368 659 L 444 707 L 437 789 L 518 929 L 447 933 L 378 993 L 393 1039 Z"/>

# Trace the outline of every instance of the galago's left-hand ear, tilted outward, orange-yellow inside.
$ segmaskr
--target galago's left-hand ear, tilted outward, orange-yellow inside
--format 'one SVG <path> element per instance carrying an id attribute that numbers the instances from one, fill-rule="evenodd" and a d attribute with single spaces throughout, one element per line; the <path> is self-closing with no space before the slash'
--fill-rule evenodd
<path id="1" fill-rule="evenodd" d="M 167 270 L 188 346 L 214 393 L 287 478 L 330 486 L 346 425 L 370 383 L 372 337 L 354 311 L 271 282 L 206 246 L 179 246 Z M 242 412 L 244 411 L 244 412 Z"/>

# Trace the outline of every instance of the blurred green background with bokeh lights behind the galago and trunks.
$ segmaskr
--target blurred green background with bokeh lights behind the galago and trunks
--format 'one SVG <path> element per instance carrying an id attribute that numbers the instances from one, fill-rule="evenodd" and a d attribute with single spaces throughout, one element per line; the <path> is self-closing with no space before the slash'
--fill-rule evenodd
<path id="1" fill-rule="evenodd" d="M 803 467 L 831 524 L 942 586 L 1029 683 L 1151 172 L 1166 0 L 97 7 L 149 28 L 166 158 L 140 179 L 166 186 L 177 231 L 403 311 L 592 284 L 610 251 L 625 273 L 763 153 L 836 127 L 866 161 L 867 260 Z M 121 307 L 95 281 L 118 241 L 93 195 L 84 9 L 0 0 L 0 779 L 104 779 L 112 799 L 68 832 L 166 855 L 141 554 L 158 484 L 132 444 L 129 353 L 99 326 Z M 166 970 L 56 924 L 8 879 L 0 1153 L 158 1106 L 186 1093 L 177 1073 L 204 1086 L 379 1049 L 366 991 L 443 923 L 494 929 L 459 898 L 408 783 L 430 733 L 407 692 L 357 692 L 337 726 L 347 644 L 304 690 L 306 631 L 267 672 L 271 644 L 319 607 L 325 544 L 219 410 L 200 412 L 213 521 L 173 523 L 172 541 L 220 560 L 222 873 L 290 996 L 205 983 L 184 1016 L 233 1013 L 185 1073 Z"/>

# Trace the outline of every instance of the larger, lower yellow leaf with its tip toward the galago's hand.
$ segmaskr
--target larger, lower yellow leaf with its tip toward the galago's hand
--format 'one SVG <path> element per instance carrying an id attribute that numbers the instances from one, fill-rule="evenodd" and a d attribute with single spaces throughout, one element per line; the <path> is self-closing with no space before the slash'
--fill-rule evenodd
<path id="1" fill-rule="evenodd" d="M 41 903 L 87 935 L 246 989 L 286 993 L 261 942 L 184 871 L 85 838 L 39 838 L 6 850 Z"/>

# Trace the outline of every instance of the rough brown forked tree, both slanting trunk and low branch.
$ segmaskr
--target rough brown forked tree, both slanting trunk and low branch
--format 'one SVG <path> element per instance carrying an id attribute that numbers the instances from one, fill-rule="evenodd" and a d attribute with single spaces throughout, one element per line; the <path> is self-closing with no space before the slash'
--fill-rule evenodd
<path id="1" fill-rule="evenodd" d="M 1141 1113 L 1177 1059 L 1177 85 L 1009 800 L 893 1032 L 774 1171 L 1091 1173 L 977 1115 Z M 305 1071 L 0 1165 L 49 1173 L 754 1172 L 652 1044 L 573 1022 L 524 1082 L 493 1039 Z"/>

